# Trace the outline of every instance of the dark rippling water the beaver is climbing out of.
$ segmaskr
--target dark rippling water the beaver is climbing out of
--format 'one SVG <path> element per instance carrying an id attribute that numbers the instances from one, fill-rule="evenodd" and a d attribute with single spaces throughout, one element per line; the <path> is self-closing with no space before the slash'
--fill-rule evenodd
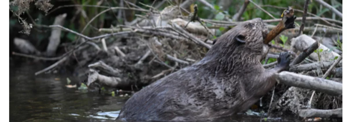
<path id="1" fill-rule="evenodd" d="M 99 95 L 66 88 L 69 75 L 34 72 L 41 64 L 10 64 L 10 122 L 115 122 L 128 97 Z M 215 122 L 302 122 L 297 117 L 267 118 L 238 115 Z M 321 121 L 323 122 L 323 121 Z M 326 121 L 325 121 L 326 122 Z"/>

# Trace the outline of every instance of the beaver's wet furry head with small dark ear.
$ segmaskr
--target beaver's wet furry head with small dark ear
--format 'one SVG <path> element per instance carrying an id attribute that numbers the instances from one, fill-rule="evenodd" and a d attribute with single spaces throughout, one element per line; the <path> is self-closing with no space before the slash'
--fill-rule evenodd
<path id="1" fill-rule="evenodd" d="M 225 67 L 224 70 L 260 63 L 266 53 L 263 40 L 268 33 L 261 18 L 244 21 L 218 37 L 200 63 L 212 69 Z"/>

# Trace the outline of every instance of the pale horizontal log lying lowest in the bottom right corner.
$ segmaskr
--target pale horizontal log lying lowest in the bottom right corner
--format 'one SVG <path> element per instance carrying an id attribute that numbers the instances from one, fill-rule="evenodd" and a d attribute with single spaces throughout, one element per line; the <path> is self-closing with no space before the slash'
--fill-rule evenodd
<path id="1" fill-rule="evenodd" d="M 306 109 L 298 111 L 300 117 L 342 118 L 342 108 L 332 110 Z"/>

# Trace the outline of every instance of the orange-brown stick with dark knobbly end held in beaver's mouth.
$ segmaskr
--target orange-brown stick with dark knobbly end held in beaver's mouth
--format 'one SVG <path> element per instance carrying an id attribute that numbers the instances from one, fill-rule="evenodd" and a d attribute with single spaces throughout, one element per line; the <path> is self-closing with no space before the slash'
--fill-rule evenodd
<path id="1" fill-rule="evenodd" d="M 289 6 L 287 10 L 284 10 L 281 17 L 282 20 L 269 32 L 268 35 L 266 35 L 264 40 L 265 44 L 269 44 L 269 42 L 271 42 L 283 30 L 295 28 L 294 20 L 296 19 L 296 16 L 294 16 L 294 10 L 292 7 Z"/>

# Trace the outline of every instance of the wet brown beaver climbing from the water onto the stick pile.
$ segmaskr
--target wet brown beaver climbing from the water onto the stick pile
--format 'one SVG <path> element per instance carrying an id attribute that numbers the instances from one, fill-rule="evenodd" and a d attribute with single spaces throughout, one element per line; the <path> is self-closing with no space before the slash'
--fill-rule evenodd
<path id="1" fill-rule="evenodd" d="M 261 18 L 244 21 L 214 41 L 205 57 L 144 87 L 122 107 L 118 120 L 190 121 L 246 111 L 288 70 L 289 52 L 264 69 L 266 28 Z"/>

